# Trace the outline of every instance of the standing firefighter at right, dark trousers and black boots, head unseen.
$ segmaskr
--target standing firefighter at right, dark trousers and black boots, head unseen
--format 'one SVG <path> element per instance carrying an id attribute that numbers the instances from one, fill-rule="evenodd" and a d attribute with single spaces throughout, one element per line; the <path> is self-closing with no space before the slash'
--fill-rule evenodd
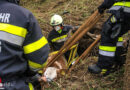
<path id="1" fill-rule="evenodd" d="M 125 56 L 121 56 L 126 52 L 121 36 L 130 30 L 130 0 L 104 0 L 98 11 L 102 14 L 105 9 L 109 9 L 111 16 L 102 28 L 98 62 L 90 65 L 88 71 L 108 75 L 113 66 L 125 62 Z"/>

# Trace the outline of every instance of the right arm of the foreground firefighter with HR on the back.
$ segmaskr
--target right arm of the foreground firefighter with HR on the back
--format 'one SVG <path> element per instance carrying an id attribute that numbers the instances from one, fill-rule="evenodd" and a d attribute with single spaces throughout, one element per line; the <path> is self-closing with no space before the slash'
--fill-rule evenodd
<path id="1" fill-rule="evenodd" d="M 25 38 L 23 50 L 28 60 L 29 68 L 37 72 L 46 65 L 49 54 L 47 39 L 43 36 L 37 20 L 31 14 L 28 20 L 28 34 Z"/>

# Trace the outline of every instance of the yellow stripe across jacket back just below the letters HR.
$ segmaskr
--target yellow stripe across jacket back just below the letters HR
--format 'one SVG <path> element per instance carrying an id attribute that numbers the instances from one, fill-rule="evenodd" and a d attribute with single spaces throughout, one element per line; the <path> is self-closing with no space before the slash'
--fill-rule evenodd
<path id="1" fill-rule="evenodd" d="M 0 23 L 0 31 L 8 32 L 24 38 L 27 34 L 27 29 L 5 23 Z"/>

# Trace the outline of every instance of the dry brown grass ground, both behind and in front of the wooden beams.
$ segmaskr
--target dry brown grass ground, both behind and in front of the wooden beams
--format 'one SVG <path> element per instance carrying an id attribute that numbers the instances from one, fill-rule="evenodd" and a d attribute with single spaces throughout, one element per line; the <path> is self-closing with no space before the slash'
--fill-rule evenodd
<path id="1" fill-rule="evenodd" d="M 50 18 L 57 13 L 62 15 L 64 11 L 69 13 L 62 15 L 65 24 L 81 25 L 100 5 L 103 0 L 24 0 L 24 7 L 29 9 L 38 19 L 38 22 L 47 37 L 52 29 L 49 25 Z M 105 16 L 95 27 L 101 29 Z M 95 63 L 96 56 L 89 55 L 89 58 L 82 61 L 71 74 L 59 78 L 46 90 L 122 90 L 123 68 L 107 77 L 99 77 L 88 73 L 87 67 Z"/>

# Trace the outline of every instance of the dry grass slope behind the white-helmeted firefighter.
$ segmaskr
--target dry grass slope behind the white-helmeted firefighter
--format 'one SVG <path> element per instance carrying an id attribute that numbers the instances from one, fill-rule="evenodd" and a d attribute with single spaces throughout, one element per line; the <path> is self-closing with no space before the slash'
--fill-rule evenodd
<path id="1" fill-rule="evenodd" d="M 39 2 L 38 2 L 39 1 Z M 24 0 L 23 5 L 29 9 L 39 21 L 45 36 L 52 29 L 49 25 L 50 18 L 54 14 L 60 14 L 64 18 L 65 24 L 81 25 L 98 7 L 102 0 Z M 26 2 L 26 3 L 25 3 Z M 64 11 L 68 14 L 63 15 Z"/>

